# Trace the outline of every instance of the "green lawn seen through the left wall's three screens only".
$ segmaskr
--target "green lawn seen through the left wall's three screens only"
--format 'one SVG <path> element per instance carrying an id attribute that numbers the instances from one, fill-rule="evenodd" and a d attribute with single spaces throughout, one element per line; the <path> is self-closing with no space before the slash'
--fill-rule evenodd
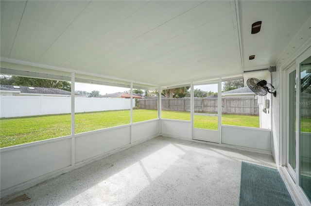
<path id="1" fill-rule="evenodd" d="M 155 110 L 134 110 L 133 122 L 157 118 Z M 0 147 L 63 137 L 71 133 L 70 114 L 0 118 Z M 130 124 L 130 110 L 75 113 L 75 134 Z"/>

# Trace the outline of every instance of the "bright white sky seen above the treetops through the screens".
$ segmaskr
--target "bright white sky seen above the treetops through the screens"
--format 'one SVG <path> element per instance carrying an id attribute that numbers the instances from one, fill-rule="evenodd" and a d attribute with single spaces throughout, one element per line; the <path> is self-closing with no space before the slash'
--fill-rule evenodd
<path id="1" fill-rule="evenodd" d="M 198 85 L 194 86 L 194 89 L 201 89 L 203 91 L 209 92 L 217 92 L 217 84 L 209 84 L 209 85 Z M 88 93 L 92 91 L 99 91 L 101 95 L 112 94 L 117 92 L 125 92 L 130 90 L 130 88 L 124 87 L 113 87 L 113 86 L 104 86 L 98 84 L 86 84 L 86 83 L 75 83 L 75 91 L 86 91 Z"/>

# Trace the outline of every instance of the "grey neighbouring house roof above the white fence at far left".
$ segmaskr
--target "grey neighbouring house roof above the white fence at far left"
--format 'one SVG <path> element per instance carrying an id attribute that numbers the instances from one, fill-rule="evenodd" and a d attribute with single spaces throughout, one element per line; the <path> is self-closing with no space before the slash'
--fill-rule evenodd
<path id="1" fill-rule="evenodd" d="M 19 87 L 19 88 L 18 88 Z M 42 95 L 71 95 L 71 92 L 44 87 L 26 87 L 26 86 L 12 86 L 0 85 L 1 91 L 19 92 L 20 94 L 42 94 Z M 78 95 L 78 94 L 76 94 Z"/>

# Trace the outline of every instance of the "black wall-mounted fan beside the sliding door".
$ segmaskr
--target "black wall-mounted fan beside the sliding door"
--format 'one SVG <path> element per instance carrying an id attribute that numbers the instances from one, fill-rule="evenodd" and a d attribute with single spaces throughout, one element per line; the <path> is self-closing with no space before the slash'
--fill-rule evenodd
<path id="1" fill-rule="evenodd" d="M 257 95 L 264 96 L 267 95 L 267 93 L 273 94 L 274 97 L 276 97 L 276 91 L 274 86 L 272 84 L 267 83 L 266 80 L 259 80 L 256 78 L 250 78 L 247 79 L 247 86 Z M 271 89 L 269 89 L 271 87 Z M 274 91 L 274 92 L 273 92 Z"/>

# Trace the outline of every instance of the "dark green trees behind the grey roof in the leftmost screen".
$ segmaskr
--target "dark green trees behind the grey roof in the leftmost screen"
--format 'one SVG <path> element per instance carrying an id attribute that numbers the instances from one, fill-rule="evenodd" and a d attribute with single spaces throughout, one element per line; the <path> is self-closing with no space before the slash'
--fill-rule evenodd
<path id="1" fill-rule="evenodd" d="M 0 83 L 3 85 L 45 87 L 45 88 L 55 88 L 65 91 L 71 91 L 70 82 L 51 80 L 51 79 L 36 79 L 28 77 L 2 75 L 2 77 L 0 78 Z"/>

